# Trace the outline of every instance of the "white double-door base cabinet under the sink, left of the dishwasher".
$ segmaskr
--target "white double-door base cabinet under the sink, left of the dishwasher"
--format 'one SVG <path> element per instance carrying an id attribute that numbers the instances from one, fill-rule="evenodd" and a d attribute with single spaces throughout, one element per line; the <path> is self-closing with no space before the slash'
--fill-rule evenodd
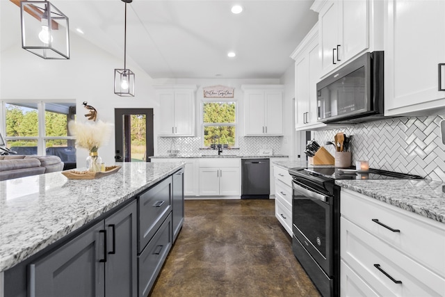
<path id="1" fill-rule="evenodd" d="M 240 195 L 239 159 L 200 159 L 199 195 Z"/>

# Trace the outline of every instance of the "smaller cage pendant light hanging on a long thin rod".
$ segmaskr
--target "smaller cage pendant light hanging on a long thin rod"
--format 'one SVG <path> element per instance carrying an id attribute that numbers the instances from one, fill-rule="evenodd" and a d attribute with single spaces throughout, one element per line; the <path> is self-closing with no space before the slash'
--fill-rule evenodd
<path id="1" fill-rule="evenodd" d="M 122 97 L 134 96 L 134 73 L 127 69 L 127 3 L 132 1 L 122 0 L 125 3 L 124 69 L 114 70 L 114 93 Z"/>

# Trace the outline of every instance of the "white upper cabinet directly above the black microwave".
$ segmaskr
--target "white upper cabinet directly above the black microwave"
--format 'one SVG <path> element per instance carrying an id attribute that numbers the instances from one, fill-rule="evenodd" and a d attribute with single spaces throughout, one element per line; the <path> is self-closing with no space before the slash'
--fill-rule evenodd
<path id="1" fill-rule="evenodd" d="M 382 50 L 382 0 L 316 0 L 321 77 L 366 51 Z"/>

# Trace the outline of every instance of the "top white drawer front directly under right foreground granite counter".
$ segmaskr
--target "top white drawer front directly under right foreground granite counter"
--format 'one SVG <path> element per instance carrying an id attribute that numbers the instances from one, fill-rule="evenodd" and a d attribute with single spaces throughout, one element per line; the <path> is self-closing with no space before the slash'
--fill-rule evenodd
<path id="1" fill-rule="evenodd" d="M 366 211 L 360 211 L 364 209 Z M 432 271 L 445 275 L 445 225 L 443 223 L 343 189 L 341 190 L 341 215 L 426 265 Z M 378 220 L 378 223 L 375 220 Z M 392 232 L 379 223 L 400 232 Z"/>

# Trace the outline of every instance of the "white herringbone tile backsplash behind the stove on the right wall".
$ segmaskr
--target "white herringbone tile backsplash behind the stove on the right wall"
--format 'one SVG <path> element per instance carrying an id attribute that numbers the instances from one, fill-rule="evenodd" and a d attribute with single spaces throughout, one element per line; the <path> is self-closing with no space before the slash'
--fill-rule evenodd
<path id="1" fill-rule="evenodd" d="M 442 144 L 439 122 L 445 115 L 419 118 L 395 118 L 369 122 L 341 129 L 315 131 L 320 145 L 334 141 L 343 132 L 352 135 L 353 164 L 369 160 L 371 168 L 420 175 L 445 182 L 445 145 Z M 325 148 L 334 154 L 332 145 Z"/>

